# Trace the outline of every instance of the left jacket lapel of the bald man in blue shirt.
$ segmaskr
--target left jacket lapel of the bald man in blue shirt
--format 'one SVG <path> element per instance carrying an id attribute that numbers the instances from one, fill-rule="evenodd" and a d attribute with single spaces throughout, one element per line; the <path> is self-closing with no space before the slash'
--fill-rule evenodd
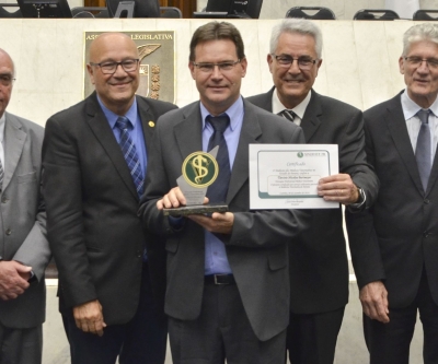
<path id="1" fill-rule="evenodd" d="M 97 103 L 95 93 L 88 98 L 87 104 L 88 124 L 93 131 L 95 138 L 99 140 L 103 149 L 106 151 L 110 160 L 113 162 L 117 169 L 118 175 L 125 183 L 126 187 L 131 191 L 132 196 L 138 200 L 138 193 L 134 185 L 132 177 L 125 157 L 123 156 L 120 146 L 111 130 L 110 124 L 105 118 Z"/>

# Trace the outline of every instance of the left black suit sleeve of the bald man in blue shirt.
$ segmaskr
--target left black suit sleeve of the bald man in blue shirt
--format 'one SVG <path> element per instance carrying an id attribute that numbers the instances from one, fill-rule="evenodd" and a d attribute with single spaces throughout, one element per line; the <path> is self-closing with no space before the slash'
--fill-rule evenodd
<path id="1" fill-rule="evenodd" d="M 47 235 L 68 307 L 96 300 L 84 243 L 82 177 L 77 140 L 50 118 L 43 144 Z M 96 166 L 99 167 L 99 166 Z"/>

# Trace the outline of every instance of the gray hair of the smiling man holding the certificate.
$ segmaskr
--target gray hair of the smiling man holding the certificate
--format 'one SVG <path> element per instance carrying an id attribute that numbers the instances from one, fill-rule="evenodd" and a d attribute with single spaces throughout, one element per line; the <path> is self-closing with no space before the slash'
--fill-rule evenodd
<path id="1" fill-rule="evenodd" d="M 322 34 L 318 25 L 306 19 L 285 19 L 273 27 L 270 34 L 269 52 L 274 54 L 278 46 L 278 38 L 283 33 L 310 35 L 315 40 L 316 57 L 321 59 Z"/>

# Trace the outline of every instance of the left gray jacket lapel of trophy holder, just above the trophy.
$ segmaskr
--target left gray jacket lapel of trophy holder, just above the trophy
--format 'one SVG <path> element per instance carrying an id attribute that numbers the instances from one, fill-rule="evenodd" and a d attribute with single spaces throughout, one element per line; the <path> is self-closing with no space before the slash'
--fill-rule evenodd
<path id="1" fill-rule="evenodd" d="M 184 109 L 184 119 L 173 129 L 181 156 L 185 160 L 193 152 L 203 150 L 203 122 L 199 103 L 194 103 Z M 173 145 L 168 145 L 173 148 Z"/>

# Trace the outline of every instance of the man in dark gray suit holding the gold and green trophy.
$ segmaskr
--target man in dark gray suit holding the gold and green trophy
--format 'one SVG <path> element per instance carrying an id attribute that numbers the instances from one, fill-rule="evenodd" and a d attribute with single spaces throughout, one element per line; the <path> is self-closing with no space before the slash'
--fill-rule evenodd
<path id="1" fill-rule="evenodd" d="M 173 363 L 283 364 L 287 243 L 307 221 L 291 210 L 250 211 L 249 144 L 300 143 L 302 131 L 241 97 L 246 58 L 232 24 L 211 22 L 196 30 L 189 69 L 200 102 L 160 118 L 140 208 L 146 225 L 166 237 L 165 313 Z M 163 208 L 186 203 L 176 187 L 184 160 L 209 151 L 218 133 L 221 168 L 207 197 L 220 190 L 230 211 L 164 216 Z"/>

